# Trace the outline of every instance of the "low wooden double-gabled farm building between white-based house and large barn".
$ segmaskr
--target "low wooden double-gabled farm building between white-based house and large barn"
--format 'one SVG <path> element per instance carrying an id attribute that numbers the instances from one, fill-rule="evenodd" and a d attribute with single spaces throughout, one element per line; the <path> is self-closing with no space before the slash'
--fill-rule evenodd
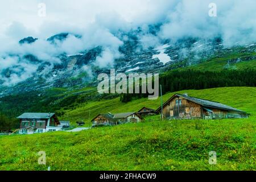
<path id="1" fill-rule="evenodd" d="M 118 125 L 127 122 L 139 122 L 142 120 L 142 117 L 133 112 L 133 113 L 118 113 L 118 114 L 98 114 L 95 118 L 92 119 L 93 126 L 97 125 Z"/>

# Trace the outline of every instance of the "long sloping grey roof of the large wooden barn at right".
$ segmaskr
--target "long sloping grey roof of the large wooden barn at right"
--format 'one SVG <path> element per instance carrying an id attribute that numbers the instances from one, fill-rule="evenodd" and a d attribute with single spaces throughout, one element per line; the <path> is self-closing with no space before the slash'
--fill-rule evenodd
<path id="1" fill-rule="evenodd" d="M 171 101 L 172 98 L 174 98 L 175 96 L 178 96 L 178 97 L 181 97 L 181 98 L 185 98 L 188 101 L 195 102 L 196 104 L 199 104 L 199 105 L 204 106 L 204 107 L 223 109 L 223 110 L 229 110 L 229 111 L 236 111 L 238 113 L 246 113 L 245 111 L 242 111 L 242 110 L 236 109 L 234 107 L 230 107 L 230 106 L 221 104 L 220 102 L 204 100 L 204 99 L 197 98 L 197 97 L 190 97 L 190 96 L 179 94 L 179 93 L 174 94 L 174 96 L 172 96 L 168 101 L 166 101 L 163 104 L 163 106 L 168 104 L 168 102 Z M 156 111 L 160 111 L 160 109 L 161 109 L 161 106 Z"/>

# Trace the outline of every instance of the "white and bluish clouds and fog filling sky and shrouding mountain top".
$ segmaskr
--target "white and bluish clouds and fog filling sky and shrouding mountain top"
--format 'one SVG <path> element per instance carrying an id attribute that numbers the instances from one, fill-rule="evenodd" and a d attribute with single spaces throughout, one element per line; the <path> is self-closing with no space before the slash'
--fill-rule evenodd
<path id="1" fill-rule="evenodd" d="M 42 2 L 46 5 L 45 17 L 38 15 L 38 4 Z M 0 84 L 14 86 L 34 77 L 35 73 L 45 77 L 49 70 L 57 70 L 56 65 L 63 63 L 63 56 L 67 60 L 77 55 L 78 60 L 82 54 L 86 55 L 92 50 L 89 54 L 90 59 L 95 58 L 93 63 L 88 64 L 89 59 L 88 63 L 85 61 L 81 64 L 82 70 L 88 75 L 95 71 L 92 67 L 109 69 L 114 67 L 115 60 L 126 60 L 130 48 L 133 54 L 152 51 L 163 44 L 172 48 L 186 38 L 200 39 L 200 42 L 206 42 L 206 46 L 209 46 L 208 40 L 215 38 L 221 38 L 224 47 L 256 42 L 256 1 L 216 0 L 213 3 L 217 5 L 217 16 L 210 17 L 209 4 L 212 2 L 1 2 Z M 136 42 L 136 48 L 127 48 L 127 42 Z M 188 54 L 186 48 L 179 49 L 179 53 L 183 53 L 183 56 Z M 40 69 L 42 65 L 44 69 Z M 125 63 L 120 65 L 123 67 Z"/>

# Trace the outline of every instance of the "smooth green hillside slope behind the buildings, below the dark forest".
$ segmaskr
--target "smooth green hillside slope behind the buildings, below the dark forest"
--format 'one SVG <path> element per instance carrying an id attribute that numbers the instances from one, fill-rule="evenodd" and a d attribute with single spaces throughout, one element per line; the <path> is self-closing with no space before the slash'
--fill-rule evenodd
<path id="1" fill-rule="evenodd" d="M 253 117 L 254 113 L 256 113 L 256 102 L 253 99 L 256 98 L 256 88 L 252 87 L 182 90 L 180 92 L 164 94 L 163 102 L 167 101 L 168 98 L 170 98 L 175 93 L 188 93 L 188 95 L 192 97 L 199 97 L 207 100 L 221 102 L 222 104 L 245 110 L 248 113 L 251 113 Z M 65 110 L 66 114 L 61 119 L 68 119 L 72 122 L 75 122 L 77 120 L 83 120 L 88 122 L 90 121 L 90 119 L 100 113 L 121 113 L 138 111 L 143 106 L 157 109 L 160 106 L 160 103 L 160 97 L 158 97 L 158 100 L 148 100 L 147 98 L 141 98 L 128 103 L 121 102 L 119 100 L 119 97 L 112 100 L 92 101 L 76 107 L 75 110 Z"/>

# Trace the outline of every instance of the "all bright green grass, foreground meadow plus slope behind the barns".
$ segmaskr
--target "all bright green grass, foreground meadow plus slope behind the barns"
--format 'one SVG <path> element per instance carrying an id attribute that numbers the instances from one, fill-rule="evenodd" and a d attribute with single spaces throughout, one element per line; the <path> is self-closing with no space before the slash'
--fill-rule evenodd
<path id="1" fill-rule="evenodd" d="M 219 101 L 251 114 L 247 119 L 160 121 L 96 127 L 79 133 L 64 131 L 0 137 L 0 170 L 256 170 L 256 88 L 183 90 L 179 93 Z M 166 94 L 166 101 L 173 93 Z M 95 101 L 69 111 L 69 118 L 112 111 L 156 108 L 160 100 L 118 98 Z M 75 120 L 74 120 L 75 121 Z M 46 165 L 38 152 L 46 152 Z M 217 164 L 209 164 L 216 151 Z"/>

